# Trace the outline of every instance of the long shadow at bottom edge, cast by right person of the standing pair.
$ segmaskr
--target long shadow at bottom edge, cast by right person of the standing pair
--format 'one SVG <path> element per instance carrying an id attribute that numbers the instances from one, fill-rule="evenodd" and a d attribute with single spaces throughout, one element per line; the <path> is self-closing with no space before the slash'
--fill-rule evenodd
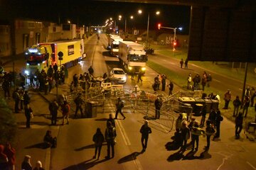
<path id="1" fill-rule="evenodd" d="M 92 162 L 92 159 L 89 159 L 85 162 L 81 162 L 80 164 L 75 164 L 75 165 L 71 165 L 71 166 L 68 166 L 67 168 L 63 169 L 63 170 L 76 170 L 76 169 L 90 169 L 92 168 L 93 166 L 97 165 L 97 164 L 100 164 L 102 162 L 106 162 L 107 159 L 102 159 L 102 160 L 94 160 Z"/>

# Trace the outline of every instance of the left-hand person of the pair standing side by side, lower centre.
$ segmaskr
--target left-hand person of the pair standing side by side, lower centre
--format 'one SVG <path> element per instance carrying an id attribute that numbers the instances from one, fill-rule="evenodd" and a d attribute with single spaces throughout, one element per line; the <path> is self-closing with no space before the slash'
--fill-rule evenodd
<path id="1" fill-rule="evenodd" d="M 95 135 L 93 135 L 92 137 L 92 141 L 95 142 L 95 155 L 93 156 L 93 159 L 96 158 L 98 152 L 97 160 L 99 160 L 100 152 L 102 149 L 102 143 L 105 141 L 105 138 L 102 132 L 100 131 L 100 128 L 97 128 Z"/>

